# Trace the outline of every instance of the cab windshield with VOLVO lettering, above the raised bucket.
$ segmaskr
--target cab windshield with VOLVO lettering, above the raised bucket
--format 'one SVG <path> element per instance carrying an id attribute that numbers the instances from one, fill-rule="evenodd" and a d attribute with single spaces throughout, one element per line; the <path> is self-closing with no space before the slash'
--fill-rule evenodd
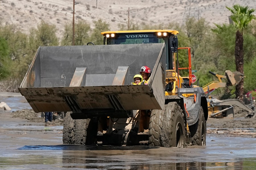
<path id="1" fill-rule="evenodd" d="M 108 44 L 148 44 L 163 43 L 162 38 L 157 38 L 154 33 L 117 34 L 117 37 L 108 38 Z"/>

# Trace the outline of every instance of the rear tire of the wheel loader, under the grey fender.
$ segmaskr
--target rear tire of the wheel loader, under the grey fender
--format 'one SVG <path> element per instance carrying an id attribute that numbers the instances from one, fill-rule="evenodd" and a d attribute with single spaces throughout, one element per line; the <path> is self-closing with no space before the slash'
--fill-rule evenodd
<path id="1" fill-rule="evenodd" d="M 194 125 L 189 126 L 189 131 L 191 134 L 192 145 L 206 145 L 206 121 L 202 106 L 197 122 Z"/>

